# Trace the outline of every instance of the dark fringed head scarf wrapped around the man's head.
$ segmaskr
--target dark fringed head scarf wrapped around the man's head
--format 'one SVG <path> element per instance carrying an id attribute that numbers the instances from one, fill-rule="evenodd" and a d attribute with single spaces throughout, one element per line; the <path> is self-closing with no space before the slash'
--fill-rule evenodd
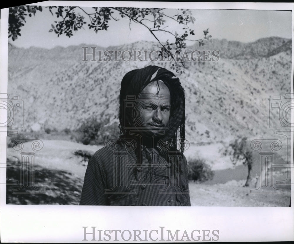
<path id="1" fill-rule="evenodd" d="M 121 136 L 129 132 L 134 126 L 133 110 L 124 106 L 124 101 L 137 99 L 139 93 L 151 82 L 161 80 L 169 89 L 171 95 L 170 125 L 164 138 L 170 139 L 180 128 L 180 138 L 185 133 L 185 94 L 181 82 L 176 76 L 165 68 L 147 66 L 128 72 L 121 81 L 120 92 L 120 128 Z M 159 88 L 159 86 L 158 86 Z M 159 91 L 159 90 L 158 90 Z"/>

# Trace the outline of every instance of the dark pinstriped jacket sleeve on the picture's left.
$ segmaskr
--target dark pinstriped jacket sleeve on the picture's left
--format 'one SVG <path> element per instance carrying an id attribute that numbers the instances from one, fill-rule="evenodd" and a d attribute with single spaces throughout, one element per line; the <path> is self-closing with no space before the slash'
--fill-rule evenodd
<path id="1" fill-rule="evenodd" d="M 95 153 L 88 162 L 80 205 L 109 205 L 104 194 L 106 174 Z"/>

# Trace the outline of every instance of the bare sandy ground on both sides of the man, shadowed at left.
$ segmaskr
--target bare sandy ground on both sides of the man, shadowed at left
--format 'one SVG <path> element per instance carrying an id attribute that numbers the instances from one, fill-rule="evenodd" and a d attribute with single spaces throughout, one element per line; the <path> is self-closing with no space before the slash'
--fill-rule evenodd
<path id="1" fill-rule="evenodd" d="M 61 140 L 42 141 L 44 143 L 43 149 L 36 151 L 34 155 L 34 171 L 30 171 L 28 167 L 21 168 L 19 164 L 20 152 L 7 148 L 6 203 L 78 205 L 87 162 L 82 156 L 75 155 L 75 152 L 83 150 L 93 154 L 102 146 L 86 146 Z M 24 144 L 29 146 L 29 143 Z M 211 145 L 210 149 L 213 147 L 217 148 L 216 145 Z M 195 146 L 191 151 L 202 151 L 204 155 L 204 149 Z M 191 155 L 192 153 L 188 153 L 187 158 Z M 219 163 L 223 160 L 227 160 L 227 158 L 218 158 Z M 250 193 L 250 190 L 253 189 L 243 187 L 246 179 L 245 166 L 243 168 L 242 166 L 225 168 L 224 165 L 230 164 L 219 165 L 219 163 L 213 166 L 216 171 L 213 181 L 206 183 L 190 181 L 192 206 L 289 206 L 290 185 L 274 185 L 275 188 L 281 189 L 281 193 Z M 20 184 L 16 181 L 20 181 L 21 176 L 27 173 L 30 175 L 30 172 L 34 172 L 35 178 L 35 183 L 29 184 L 30 192 L 35 193 L 12 192 L 12 190 L 20 188 Z M 278 173 L 280 173 L 280 178 L 276 179 L 285 179 L 285 170 L 275 172 L 274 176 L 278 176 Z"/>

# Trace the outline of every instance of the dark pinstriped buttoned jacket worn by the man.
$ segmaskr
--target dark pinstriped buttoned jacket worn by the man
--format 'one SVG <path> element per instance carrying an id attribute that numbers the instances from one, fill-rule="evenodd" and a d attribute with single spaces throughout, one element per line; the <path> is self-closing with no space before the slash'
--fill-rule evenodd
<path id="1" fill-rule="evenodd" d="M 171 156 L 181 168 L 177 177 L 169 160 L 146 149 L 135 178 L 133 148 L 116 142 L 101 148 L 88 162 L 80 205 L 191 206 L 187 160 L 179 151 Z"/>

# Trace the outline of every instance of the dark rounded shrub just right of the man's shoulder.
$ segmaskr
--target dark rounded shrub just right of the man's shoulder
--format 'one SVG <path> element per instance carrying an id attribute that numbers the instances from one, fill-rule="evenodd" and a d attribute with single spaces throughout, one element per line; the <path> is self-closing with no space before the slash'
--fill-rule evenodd
<path id="1" fill-rule="evenodd" d="M 188 162 L 188 178 L 193 181 L 208 181 L 214 176 L 214 171 L 204 159 L 194 159 Z"/>

